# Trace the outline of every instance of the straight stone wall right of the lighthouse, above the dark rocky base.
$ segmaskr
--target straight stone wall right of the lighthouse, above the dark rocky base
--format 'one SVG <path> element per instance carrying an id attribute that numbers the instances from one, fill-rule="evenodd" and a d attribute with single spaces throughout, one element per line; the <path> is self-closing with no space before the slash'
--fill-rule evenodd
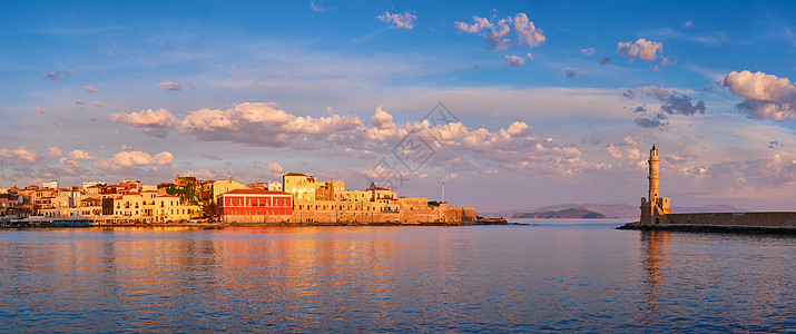
<path id="1" fill-rule="evenodd" d="M 796 227 L 796 213 L 669 214 L 660 224 L 690 226 Z"/>

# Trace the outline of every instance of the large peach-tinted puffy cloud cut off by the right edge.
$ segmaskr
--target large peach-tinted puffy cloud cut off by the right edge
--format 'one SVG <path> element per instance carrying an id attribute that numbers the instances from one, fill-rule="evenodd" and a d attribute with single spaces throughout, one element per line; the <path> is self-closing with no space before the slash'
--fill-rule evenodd
<path id="1" fill-rule="evenodd" d="M 748 70 L 733 71 L 725 77 L 723 86 L 730 94 L 745 98 L 735 107 L 750 118 L 777 121 L 796 119 L 796 87 L 787 78 Z"/>

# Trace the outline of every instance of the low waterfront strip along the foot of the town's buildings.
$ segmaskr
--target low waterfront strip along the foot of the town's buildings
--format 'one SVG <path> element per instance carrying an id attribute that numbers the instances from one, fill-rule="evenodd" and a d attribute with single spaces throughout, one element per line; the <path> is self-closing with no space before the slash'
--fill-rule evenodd
<path id="1" fill-rule="evenodd" d="M 471 222 L 362 222 L 362 223 L 132 223 L 132 224 L 59 224 L 45 223 L 37 225 L 3 225 L 0 229 L 27 228 L 85 228 L 85 227 L 194 227 L 208 229 L 223 229 L 234 227 L 314 227 L 314 226 L 475 226 L 475 225 L 510 225 L 505 218 L 491 218 Z"/>

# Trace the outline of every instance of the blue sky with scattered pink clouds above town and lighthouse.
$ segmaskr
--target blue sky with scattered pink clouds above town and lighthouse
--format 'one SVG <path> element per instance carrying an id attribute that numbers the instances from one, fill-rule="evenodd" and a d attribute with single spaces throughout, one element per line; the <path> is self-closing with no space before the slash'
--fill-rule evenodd
<path id="1" fill-rule="evenodd" d="M 431 3 L 430 3 L 431 2 Z M 0 188 L 796 208 L 793 1 L 4 1 Z"/>

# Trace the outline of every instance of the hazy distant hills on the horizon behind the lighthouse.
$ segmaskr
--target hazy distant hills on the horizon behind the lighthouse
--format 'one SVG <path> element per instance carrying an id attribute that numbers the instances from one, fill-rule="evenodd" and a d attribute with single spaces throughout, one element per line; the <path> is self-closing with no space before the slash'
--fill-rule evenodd
<path id="1" fill-rule="evenodd" d="M 580 209 L 584 212 L 592 212 L 601 214 L 608 218 L 638 218 L 641 212 L 638 205 L 622 204 L 559 204 L 542 206 L 530 210 L 517 210 L 511 216 L 512 218 L 537 218 L 532 217 L 535 214 L 542 216 L 543 213 L 558 213 L 567 209 Z M 744 213 L 748 212 L 743 208 L 737 208 L 730 205 L 705 205 L 699 207 L 672 207 L 671 212 L 675 214 L 688 214 L 688 213 Z M 572 212 L 574 214 L 574 212 Z M 582 213 L 587 214 L 587 213 Z M 530 215 L 529 217 L 519 217 L 518 215 Z M 554 216 L 554 214 L 553 214 Z M 543 217 L 538 217 L 543 218 Z M 548 218 L 586 218 L 586 217 L 548 217 Z M 593 217 L 592 217 L 593 218 Z"/>

